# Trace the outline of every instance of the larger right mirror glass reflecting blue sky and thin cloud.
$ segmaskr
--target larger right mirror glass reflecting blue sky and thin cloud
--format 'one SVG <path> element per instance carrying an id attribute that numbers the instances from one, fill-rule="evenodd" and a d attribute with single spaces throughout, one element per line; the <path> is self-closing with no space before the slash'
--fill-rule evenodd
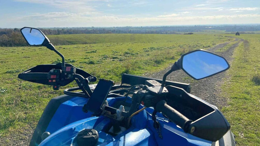
<path id="1" fill-rule="evenodd" d="M 199 50 L 184 55 L 182 66 L 186 73 L 199 80 L 224 71 L 229 64 L 218 55 Z"/>

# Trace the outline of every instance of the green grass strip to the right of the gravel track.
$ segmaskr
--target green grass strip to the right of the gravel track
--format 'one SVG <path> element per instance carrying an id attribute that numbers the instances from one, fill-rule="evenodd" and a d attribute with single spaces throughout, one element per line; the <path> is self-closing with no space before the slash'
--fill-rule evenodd
<path id="1" fill-rule="evenodd" d="M 245 39 L 234 52 L 223 96 L 229 100 L 222 112 L 231 124 L 238 145 L 260 145 L 260 47 L 259 34 L 243 34 Z"/>

